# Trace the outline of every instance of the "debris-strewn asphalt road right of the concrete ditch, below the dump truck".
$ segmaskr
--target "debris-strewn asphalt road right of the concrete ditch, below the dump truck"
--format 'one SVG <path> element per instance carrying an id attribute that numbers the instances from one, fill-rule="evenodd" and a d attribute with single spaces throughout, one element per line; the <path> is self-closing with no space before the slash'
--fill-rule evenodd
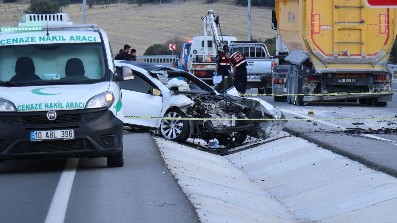
<path id="1" fill-rule="evenodd" d="M 256 94 L 257 89 L 247 90 Z M 397 177 L 397 135 L 394 134 L 351 134 L 344 130 L 360 128 L 368 131 L 382 128 L 396 129 L 397 117 L 392 120 L 366 120 L 349 118 L 395 117 L 397 114 L 397 96 L 393 94 L 387 107 L 363 106 L 348 102 L 322 102 L 307 106 L 296 106 L 287 102 L 274 102 L 272 96 L 259 97 L 282 109 L 287 118 L 345 118 L 346 120 L 325 121 L 289 121 L 285 130 L 310 142 L 334 151 L 353 160 L 360 161 L 368 167 L 383 171 Z M 308 115 L 314 111 L 314 115 Z"/>

